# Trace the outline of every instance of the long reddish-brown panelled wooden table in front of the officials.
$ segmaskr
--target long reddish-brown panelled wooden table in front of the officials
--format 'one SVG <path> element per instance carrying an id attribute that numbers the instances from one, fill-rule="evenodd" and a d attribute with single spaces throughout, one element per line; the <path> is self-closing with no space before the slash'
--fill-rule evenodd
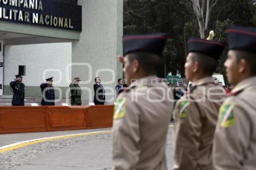
<path id="1" fill-rule="evenodd" d="M 0 134 L 112 127 L 114 105 L 0 107 Z"/>

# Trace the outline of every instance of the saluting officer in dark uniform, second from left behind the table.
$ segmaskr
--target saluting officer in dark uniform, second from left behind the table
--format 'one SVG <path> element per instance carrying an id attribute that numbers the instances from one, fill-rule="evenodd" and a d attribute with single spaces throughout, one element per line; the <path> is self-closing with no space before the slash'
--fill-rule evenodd
<path id="1" fill-rule="evenodd" d="M 43 98 L 41 101 L 42 106 L 55 105 L 55 91 L 52 86 L 53 77 L 45 79 L 46 82 L 40 85 Z"/>

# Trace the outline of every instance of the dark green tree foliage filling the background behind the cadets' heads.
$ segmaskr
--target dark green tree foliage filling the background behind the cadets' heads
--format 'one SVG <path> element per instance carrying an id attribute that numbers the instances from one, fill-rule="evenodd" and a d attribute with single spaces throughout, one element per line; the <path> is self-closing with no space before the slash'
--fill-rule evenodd
<path id="1" fill-rule="evenodd" d="M 215 40 L 226 42 L 226 26 L 256 27 L 255 3 L 256 0 L 219 0 L 212 9 L 206 36 L 214 30 Z M 164 50 L 166 67 L 162 66 L 158 76 L 165 77 L 164 73 L 170 71 L 175 75 L 178 70 L 184 77 L 187 40 L 200 37 L 198 21 L 189 0 L 124 0 L 123 17 L 124 34 L 170 32 Z M 216 71 L 224 78 L 227 51 L 226 48 Z"/>

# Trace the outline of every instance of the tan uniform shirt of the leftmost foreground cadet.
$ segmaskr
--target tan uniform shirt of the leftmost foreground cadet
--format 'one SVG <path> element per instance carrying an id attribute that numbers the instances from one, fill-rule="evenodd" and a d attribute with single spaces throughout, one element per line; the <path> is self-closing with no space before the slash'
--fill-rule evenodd
<path id="1" fill-rule="evenodd" d="M 173 93 L 156 81 L 155 76 L 140 79 L 117 99 L 112 134 L 114 170 L 167 170 L 166 138 Z"/>

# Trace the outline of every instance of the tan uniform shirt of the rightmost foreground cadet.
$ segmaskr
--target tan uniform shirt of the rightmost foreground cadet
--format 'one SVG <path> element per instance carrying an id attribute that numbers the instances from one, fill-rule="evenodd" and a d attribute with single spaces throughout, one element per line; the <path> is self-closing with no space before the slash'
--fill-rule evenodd
<path id="1" fill-rule="evenodd" d="M 256 169 L 256 76 L 243 80 L 220 108 L 214 136 L 216 170 Z"/>

